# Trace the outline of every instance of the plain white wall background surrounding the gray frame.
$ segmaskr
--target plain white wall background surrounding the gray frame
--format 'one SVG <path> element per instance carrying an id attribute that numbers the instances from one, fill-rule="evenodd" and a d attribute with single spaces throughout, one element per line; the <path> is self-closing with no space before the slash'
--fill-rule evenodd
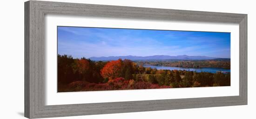
<path id="1" fill-rule="evenodd" d="M 117 113 L 54 119 L 256 119 L 256 12 L 254 0 L 52 0 L 248 14 L 248 105 L 138 113 Z M 3 0 L 0 6 L 0 119 L 25 119 L 24 2 Z"/>

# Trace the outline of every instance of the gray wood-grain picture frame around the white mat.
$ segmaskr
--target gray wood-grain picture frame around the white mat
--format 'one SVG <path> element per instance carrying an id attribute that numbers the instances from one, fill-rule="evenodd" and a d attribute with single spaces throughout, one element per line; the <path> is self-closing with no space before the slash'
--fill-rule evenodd
<path id="1" fill-rule="evenodd" d="M 179 20 L 239 24 L 239 96 L 45 105 L 45 15 L 79 15 L 121 19 Z M 237 64 L 238 65 L 238 64 Z M 247 105 L 247 14 L 107 6 L 49 1 L 25 2 L 25 117 Z"/>

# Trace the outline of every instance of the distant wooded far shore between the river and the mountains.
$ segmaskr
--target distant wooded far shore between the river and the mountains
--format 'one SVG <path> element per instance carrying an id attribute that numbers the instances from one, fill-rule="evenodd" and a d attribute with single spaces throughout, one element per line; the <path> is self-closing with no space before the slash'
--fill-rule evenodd
<path id="1" fill-rule="evenodd" d="M 138 65 L 188 67 L 188 68 L 225 68 L 230 69 L 230 60 L 165 60 L 165 61 L 135 61 Z"/>

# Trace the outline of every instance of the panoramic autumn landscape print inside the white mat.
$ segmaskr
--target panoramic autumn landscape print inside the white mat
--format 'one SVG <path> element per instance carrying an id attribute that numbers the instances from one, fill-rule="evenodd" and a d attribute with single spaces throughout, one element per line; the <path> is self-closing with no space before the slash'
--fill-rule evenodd
<path id="1" fill-rule="evenodd" d="M 230 86 L 230 33 L 58 26 L 58 92 Z"/>

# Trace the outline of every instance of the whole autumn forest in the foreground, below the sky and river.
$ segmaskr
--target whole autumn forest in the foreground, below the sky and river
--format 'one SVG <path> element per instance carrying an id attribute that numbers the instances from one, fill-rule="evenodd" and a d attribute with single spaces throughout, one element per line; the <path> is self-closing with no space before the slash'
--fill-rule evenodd
<path id="1" fill-rule="evenodd" d="M 230 86 L 230 73 L 157 70 L 128 59 L 103 62 L 58 55 L 58 92 L 213 86 Z"/>

